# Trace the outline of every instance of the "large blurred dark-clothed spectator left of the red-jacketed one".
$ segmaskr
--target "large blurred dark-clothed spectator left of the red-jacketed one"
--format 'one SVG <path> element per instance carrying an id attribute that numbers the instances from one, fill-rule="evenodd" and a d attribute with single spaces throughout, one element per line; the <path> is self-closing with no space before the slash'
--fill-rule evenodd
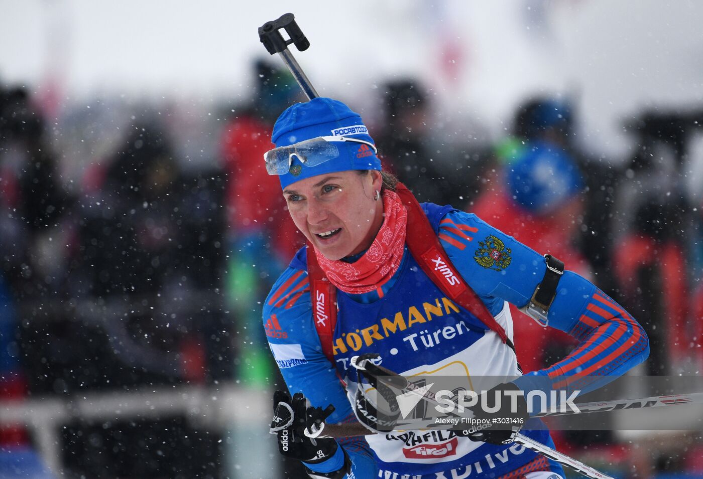
<path id="1" fill-rule="evenodd" d="M 124 371 L 156 375 L 130 379 L 117 368 L 104 374 L 113 384 L 202 382 L 228 365 L 217 293 L 221 197 L 202 178 L 184 178 L 167 136 L 146 124 L 131 126 L 102 188 L 80 205 L 70 293 L 104 305 L 94 314 L 120 346 Z"/>

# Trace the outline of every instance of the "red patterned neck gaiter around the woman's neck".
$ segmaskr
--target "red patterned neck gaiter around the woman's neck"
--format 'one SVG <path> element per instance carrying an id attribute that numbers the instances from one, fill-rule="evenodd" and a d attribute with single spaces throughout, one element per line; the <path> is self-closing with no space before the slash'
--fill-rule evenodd
<path id="1" fill-rule="evenodd" d="M 329 260 L 315 250 L 320 268 L 328 280 L 346 293 L 374 291 L 385 284 L 400 266 L 405 247 L 408 211 L 396 192 L 383 192 L 385 218 L 366 253 L 354 263 Z"/>

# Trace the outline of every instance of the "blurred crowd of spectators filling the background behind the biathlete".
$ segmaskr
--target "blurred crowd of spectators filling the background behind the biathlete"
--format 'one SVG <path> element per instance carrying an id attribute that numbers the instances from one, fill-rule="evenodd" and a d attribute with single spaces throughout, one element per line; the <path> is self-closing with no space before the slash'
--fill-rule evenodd
<path id="1" fill-rule="evenodd" d="M 548 25 L 550 5 L 520 4 L 526 25 Z M 284 10 L 237 28 L 255 41 Z M 308 35 L 303 66 L 316 55 Z M 451 77 L 470 52 L 444 39 Z M 0 478 L 302 477 L 266 437 L 280 379 L 261 302 L 302 241 L 262 163 L 276 117 L 304 100 L 280 65 L 250 55 L 231 98 L 72 99 L 51 76 L 4 78 L 0 62 Z M 513 94 L 497 129 L 427 74 L 386 74 L 363 95 L 335 88 L 325 93 L 368 118 L 385 168 L 421 202 L 475 212 L 626 306 L 651 341 L 637 374 L 700 374 L 700 88 L 619 117 L 628 144 L 610 155 L 583 126 L 592 105 L 578 88 Z M 524 370 L 574 347 L 513 316 Z M 703 476 L 700 431 L 555 441 L 619 478 Z"/>

